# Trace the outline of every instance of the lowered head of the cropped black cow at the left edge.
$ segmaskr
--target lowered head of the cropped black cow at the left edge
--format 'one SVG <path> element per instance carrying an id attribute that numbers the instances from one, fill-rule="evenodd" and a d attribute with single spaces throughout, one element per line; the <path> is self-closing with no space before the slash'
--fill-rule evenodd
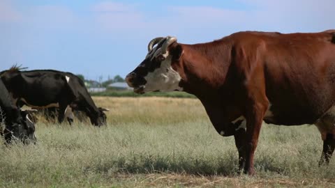
<path id="1" fill-rule="evenodd" d="M 5 128 L 3 136 L 6 143 L 11 143 L 13 140 L 22 141 L 23 143 L 35 143 L 35 125 L 29 118 L 31 111 L 20 110 L 20 116 L 15 120 L 5 119 Z"/>

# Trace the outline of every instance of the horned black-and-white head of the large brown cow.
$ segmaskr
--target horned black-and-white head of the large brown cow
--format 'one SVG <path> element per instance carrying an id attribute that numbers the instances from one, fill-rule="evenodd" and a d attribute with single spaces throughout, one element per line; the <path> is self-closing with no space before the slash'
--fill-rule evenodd
<path id="1" fill-rule="evenodd" d="M 156 45 L 156 47 L 154 47 Z M 135 93 L 149 91 L 182 91 L 177 63 L 183 52 L 177 38 L 160 37 L 149 42 L 144 61 L 126 77 Z"/>

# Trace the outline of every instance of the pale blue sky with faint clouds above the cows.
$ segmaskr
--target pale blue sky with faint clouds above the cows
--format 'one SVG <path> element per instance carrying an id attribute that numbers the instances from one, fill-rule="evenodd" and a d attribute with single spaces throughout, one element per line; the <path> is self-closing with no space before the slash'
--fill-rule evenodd
<path id="1" fill-rule="evenodd" d="M 207 42 L 237 31 L 335 29 L 334 0 L 0 0 L 0 70 L 17 63 L 124 77 L 157 36 Z"/>

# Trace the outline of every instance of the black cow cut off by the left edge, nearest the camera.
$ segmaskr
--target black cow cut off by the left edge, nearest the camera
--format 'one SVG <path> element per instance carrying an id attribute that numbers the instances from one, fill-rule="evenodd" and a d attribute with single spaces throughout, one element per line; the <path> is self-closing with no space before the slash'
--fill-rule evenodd
<path id="1" fill-rule="evenodd" d="M 29 111 L 17 109 L 1 79 L 0 91 L 0 118 L 1 123 L 4 121 L 5 124 L 1 136 L 5 137 L 6 143 L 10 143 L 12 139 L 19 139 L 23 143 L 35 142 L 35 125 L 29 119 Z"/>

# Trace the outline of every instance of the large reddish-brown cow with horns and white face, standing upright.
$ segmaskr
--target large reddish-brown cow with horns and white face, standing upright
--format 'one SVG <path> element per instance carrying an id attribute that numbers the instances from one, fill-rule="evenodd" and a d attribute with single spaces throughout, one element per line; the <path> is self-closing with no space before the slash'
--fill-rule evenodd
<path id="1" fill-rule="evenodd" d="M 234 136 L 245 173 L 254 173 L 262 120 L 315 124 L 324 141 L 320 164 L 329 162 L 335 148 L 335 30 L 246 31 L 195 45 L 168 36 L 151 40 L 148 51 L 127 75 L 128 85 L 135 93 L 197 96 L 218 134 Z"/>

